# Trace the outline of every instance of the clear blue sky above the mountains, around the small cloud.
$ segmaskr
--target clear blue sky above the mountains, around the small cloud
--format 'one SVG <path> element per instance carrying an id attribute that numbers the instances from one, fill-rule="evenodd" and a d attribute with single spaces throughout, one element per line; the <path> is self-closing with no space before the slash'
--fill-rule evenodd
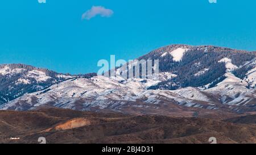
<path id="1" fill-rule="evenodd" d="M 82 19 L 92 6 L 113 14 Z M 97 72 L 100 59 L 133 59 L 169 44 L 256 51 L 255 0 L 5 0 L 0 64 Z"/>

